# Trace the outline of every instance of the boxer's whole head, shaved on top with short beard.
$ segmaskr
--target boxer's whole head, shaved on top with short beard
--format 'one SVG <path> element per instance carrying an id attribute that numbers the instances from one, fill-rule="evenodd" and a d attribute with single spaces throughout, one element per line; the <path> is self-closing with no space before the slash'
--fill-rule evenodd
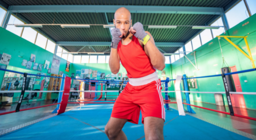
<path id="1" fill-rule="evenodd" d="M 125 7 L 117 9 L 113 21 L 115 27 L 119 28 L 122 34 L 124 33 L 123 38 L 126 38 L 130 33 L 129 28 L 131 27 L 130 11 Z"/>

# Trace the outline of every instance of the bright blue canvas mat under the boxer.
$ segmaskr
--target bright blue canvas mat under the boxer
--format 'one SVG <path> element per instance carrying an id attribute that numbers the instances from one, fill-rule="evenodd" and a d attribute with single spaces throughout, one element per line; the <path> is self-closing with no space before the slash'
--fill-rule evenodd
<path id="1" fill-rule="evenodd" d="M 112 108 L 113 104 L 85 105 L 0 136 L 0 140 L 108 140 L 103 132 Z M 250 140 L 195 117 L 179 116 L 176 110 L 166 110 L 165 124 L 165 140 Z M 128 122 L 123 131 L 128 140 L 145 140 L 141 115 L 139 124 Z"/>

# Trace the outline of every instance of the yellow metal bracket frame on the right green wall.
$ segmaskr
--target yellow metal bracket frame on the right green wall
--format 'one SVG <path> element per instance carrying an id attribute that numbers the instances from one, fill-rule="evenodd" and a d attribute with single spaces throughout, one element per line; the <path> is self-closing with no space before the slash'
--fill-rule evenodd
<path id="1" fill-rule="evenodd" d="M 252 62 L 252 65 L 253 65 L 253 68 L 255 69 L 255 65 L 254 65 L 254 59 L 253 59 L 253 56 L 252 56 L 252 53 L 251 53 L 251 50 L 250 50 L 250 47 L 249 47 L 249 44 L 247 42 L 247 36 L 216 36 L 216 37 L 223 37 L 226 41 L 228 41 L 231 45 L 233 45 L 235 48 L 237 48 L 240 52 L 242 52 L 247 58 L 249 58 Z M 244 38 L 245 40 L 245 45 L 246 45 L 246 48 L 248 50 L 248 53 L 245 53 L 241 48 L 237 47 L 231 40 L 229 40 L 228 38 Z"/>

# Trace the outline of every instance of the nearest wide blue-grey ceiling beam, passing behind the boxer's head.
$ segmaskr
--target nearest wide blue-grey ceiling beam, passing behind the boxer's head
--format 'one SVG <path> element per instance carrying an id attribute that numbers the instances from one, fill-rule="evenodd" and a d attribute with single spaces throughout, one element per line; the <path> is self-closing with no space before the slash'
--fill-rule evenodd
<path id="1" fill-rule="evenodd" d="M 220 15 L 222 12 L 219 7 L 139 5 L 11 5 L 9 10 L 12 13 L 115 13 L 120 7 L 126 7 L 131 13 Z"/>

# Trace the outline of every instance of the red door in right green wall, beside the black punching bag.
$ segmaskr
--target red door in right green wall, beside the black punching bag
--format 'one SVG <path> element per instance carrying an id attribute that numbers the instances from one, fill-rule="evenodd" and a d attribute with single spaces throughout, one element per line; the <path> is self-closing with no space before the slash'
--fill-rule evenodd
<path id="1" fill-rule="evenodd" d="M 236 66 L 230 67 L 231 72 L 235 72 Z M 232 74 L 236 92 L 242 92 L 238 74 Z M 245 99 L 243 94 L 231 94 L 230 96 L 233 107 L 246 108 Z"/>

